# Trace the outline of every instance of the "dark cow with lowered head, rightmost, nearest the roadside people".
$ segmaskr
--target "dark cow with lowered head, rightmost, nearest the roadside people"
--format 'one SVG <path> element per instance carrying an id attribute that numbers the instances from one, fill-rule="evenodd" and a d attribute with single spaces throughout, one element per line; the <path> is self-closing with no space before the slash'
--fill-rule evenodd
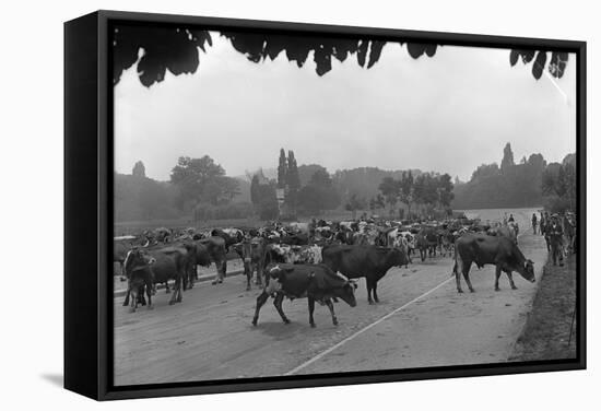
<path id="1" fill-rule="evenodd" d="M 485 234 L 466 234 L 457 239 L 455 245 L 455 265 L 452 272 L 457 282 L 457 292 L 462 293 L 460 271 L 463 274 L 470 292 L 474 292 L 470 281 L 472 262 L 479 268 L 484 265 L 495 265 L 495 291 L 499 291 L 498 279 L 502 271 L 507 274 L 512 290 L 517 286 L 511 277 L 517 271 L 527 281 L 534 282 L 534 263 L 526 259 L 517 244 L 505 236 L 490 236 Z"/>

